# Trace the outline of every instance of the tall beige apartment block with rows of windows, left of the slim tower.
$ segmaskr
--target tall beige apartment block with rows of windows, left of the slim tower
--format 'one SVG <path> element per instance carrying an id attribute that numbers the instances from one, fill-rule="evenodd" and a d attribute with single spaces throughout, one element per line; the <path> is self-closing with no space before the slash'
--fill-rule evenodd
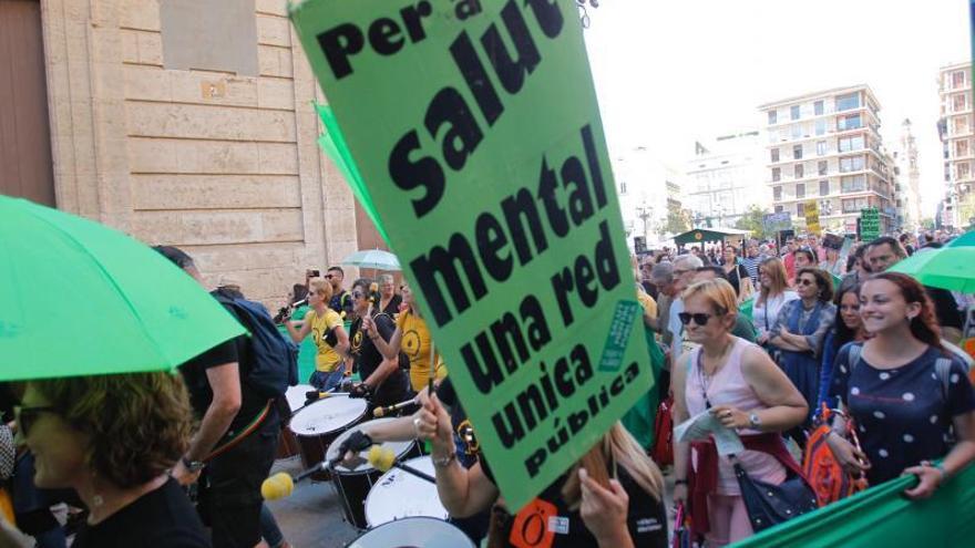
<path id="1" fill-rule="evenodd" d="M 880 102 L 869 85 L 837 87 L 759 106 L 766 122 L 766 183 L 776 211 L 804 229 L 815 200 L 820 226 L 855 232 L 860 210 L 875 207 L 884 231 L 896 228 L 893 158 L 880 135 Z"/>

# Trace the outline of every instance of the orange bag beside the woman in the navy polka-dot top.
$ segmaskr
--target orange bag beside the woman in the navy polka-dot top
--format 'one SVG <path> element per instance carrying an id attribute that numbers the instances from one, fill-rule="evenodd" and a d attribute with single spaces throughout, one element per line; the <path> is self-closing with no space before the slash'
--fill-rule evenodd
<path id="1" fill-rule="evenodd" d="M 866 488 L 866 478 L 854 478 L 843 471 L 840 463 L 833 457 L 833 452 L 827 444 L 830 434 L 830 423 L 833 414 L 846 418 L 846 438 L 858 449 L 860 440 L 853 430 L 851 421 L 842 411 L 831 410 L 823 404 L 822 413 L 817 418 L 817 426 L 805 442 L 805 453 L 802 455 L 802 473 L 815 492 L 815 498 L 820 507 L 835 503 Z"/>

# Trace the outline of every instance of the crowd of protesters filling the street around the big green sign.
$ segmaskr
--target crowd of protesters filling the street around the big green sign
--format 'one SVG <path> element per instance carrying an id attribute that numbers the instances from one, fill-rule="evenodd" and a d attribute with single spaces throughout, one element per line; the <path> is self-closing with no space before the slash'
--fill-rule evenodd
<path id="1" fill-rule="evenodd" d="M 849 244 L 824 247 L 810 236 L 781 247 L 749 240 L 741 249 L 634 257 L 656 387 L 643 411 L 627 413 L 533 503 L 566 518 L 550 546 L 667 546 L 666 498 L 687 510 L 691 535 L 706 546 L 751 536 L 756 516 L 737 471 L 767 485 L 801 480 L 823 409 L 842 410 L 825 423 L 835 461 L 869 485 L 913 474 L 918 482 L 905 495 L 925 498 L 975 459 L 972 360 L 955 345 L 968 328 L 969 297 L 887 271 L 943 241 Z M 156 249 L 203 283 L 187 254 Z M 240 317 L 243 288 L 224 282 L 212 294 Z M 419 402 L 348 436 L 340 454 L 427 441 L 451 521 L 474 542 L 524 545 L 516 527 L 524 517 L 505 505 L 471 443 L 409 285 L 382 275 L 346 289 L 340 267 L 309 270 L 275 320 L 294 342 L 311 337 L 315 371 L 301 381 L 317 391 L 346 391 L 370 406 Z M 8 386 L 25 449 L 12 489 L 20 530 L 0 520 L 0 546 L 66 548 L 61 520 L 44 514 L 66 503 L 84 510 L 79 548 L 288 547 L 260 484 L 290 411 L 250 381 L 255 359 L 242 335 L 184 363 L 178 375 Z M 675 437 L 661 454 L 670 433 L 655 431 L 651 418 L 661 401 L 674 425 L 710 414 L 743 449 L 723 455 L 711 440 Z"/>

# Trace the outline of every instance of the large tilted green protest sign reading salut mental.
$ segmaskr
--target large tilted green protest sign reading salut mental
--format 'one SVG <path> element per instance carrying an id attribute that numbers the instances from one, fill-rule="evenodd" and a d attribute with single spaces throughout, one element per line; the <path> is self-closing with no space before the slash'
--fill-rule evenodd
<path id="1" fill-rule="evenodd" d="M 291 8 L 510 507 L 653 386 L 572 0 Z"/>

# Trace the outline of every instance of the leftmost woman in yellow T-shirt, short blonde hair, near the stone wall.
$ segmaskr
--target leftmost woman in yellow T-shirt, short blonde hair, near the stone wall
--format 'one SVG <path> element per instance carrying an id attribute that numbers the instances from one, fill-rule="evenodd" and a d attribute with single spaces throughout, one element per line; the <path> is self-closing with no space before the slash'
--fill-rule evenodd
<path id="1" fill-rule="evenodd" d="M 300 343 L 311 333 L 318 352 L 315 354 L 315 372 L 311 373 L 308 384 L 326 391 L 338 386 L 345 378 L 342 354 L 348 352 L 349 335 L 346 334 L 342 318 L 328 307 L 332 296 L 331 283 L 324 278 L 311 278 L 308 287 L 308 304 L 311 310 L 305 316 L 301 328 L 296 328 L 291 321 L 285 322 L 285 327 L 296 343 Z"/>

